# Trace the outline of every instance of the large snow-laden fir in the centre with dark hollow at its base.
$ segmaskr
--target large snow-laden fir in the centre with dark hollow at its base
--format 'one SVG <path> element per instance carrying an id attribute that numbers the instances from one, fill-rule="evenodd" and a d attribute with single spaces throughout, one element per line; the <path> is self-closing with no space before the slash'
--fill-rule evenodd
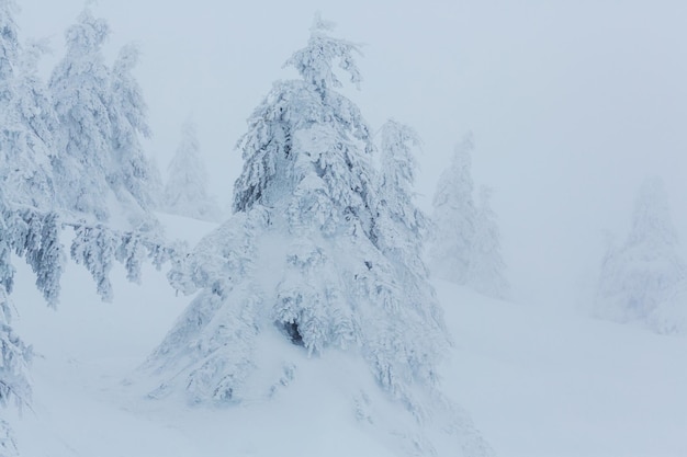
<path id="1" fill-rule="evenodd" d="M 200 292 L 146 364 L 159 379 L 150 396 L 211 404 L 264 400 L 297 378 L 303 354 L 311 363 L 354 354 L 382 398 L 415 418 L 412 430 L 387 418 L 401 421 L 386 430 L 388 442 L 431 455 L 421 424 L 444 404 L 436 369 L 448 336 L 409 236 L 420 225 L 409 202 L 413 136 L 397 125 L 385 130 L 394 130 L 386 160 L 397 162 L 383 179 L 405 194 L 380 192 L 370 128 L 337 92 L 335 65 L 352 83 L 361 81 L 359 49 L 329 28 L 316 19 L 307 46 L 286 62 L 301 79 L 275 82 L 249 117 L 238 144 L 245 164 L 234 215 L 170 274 L 180 290 Z M 416 264 L 402 264 L 406 256 Z M 375 410 L 362 390 L 351 414 L 386 423 L 361 412 Z M 468 455 L 489 453 L 465 422 L 453 420 L 444 432 L 462 434 Z"/>

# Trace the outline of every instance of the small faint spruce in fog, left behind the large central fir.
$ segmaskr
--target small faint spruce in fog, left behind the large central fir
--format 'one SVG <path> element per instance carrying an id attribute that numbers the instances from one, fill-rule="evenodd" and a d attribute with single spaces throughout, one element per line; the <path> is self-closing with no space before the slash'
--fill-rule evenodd
<path id="1" fill-rule="evenodd" d="M 162 209 L 201 220 L 217 220 L 219 207 L 207 192 L 207 172 L 201 157 L 195 125 L 187 121 L 181 142 L 168 167 Z"/>

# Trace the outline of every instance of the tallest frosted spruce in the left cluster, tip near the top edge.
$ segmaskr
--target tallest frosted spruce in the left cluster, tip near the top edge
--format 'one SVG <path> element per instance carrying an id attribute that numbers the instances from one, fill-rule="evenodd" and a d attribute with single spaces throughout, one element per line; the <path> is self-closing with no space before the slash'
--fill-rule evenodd
<path id="1" fill-rule="evenodd" d="M 61 126 L 53 158 L 59 204 L 66 209 L 94 215 L 99 220 L 110 215 L 111 75 L 102 55 L 109 33 L 108 23 L 86 9 L 67 30 L 66 55 L 49 81 Z"/>

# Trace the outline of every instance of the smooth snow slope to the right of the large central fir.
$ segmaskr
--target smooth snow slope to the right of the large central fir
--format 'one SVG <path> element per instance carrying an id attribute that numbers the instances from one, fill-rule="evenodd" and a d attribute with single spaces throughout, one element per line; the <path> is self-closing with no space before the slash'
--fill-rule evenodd
<path id="1" fill-rule="evenodd" d="M 498 455 L 687 455 L 687 339 L 436 286 L 447 390 Z"/>

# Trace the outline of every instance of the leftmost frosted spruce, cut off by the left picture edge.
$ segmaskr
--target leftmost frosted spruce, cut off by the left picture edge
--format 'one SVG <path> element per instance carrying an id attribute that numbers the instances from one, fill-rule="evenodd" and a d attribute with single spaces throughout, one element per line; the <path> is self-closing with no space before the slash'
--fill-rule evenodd
<path id="1" fill-rule="evenodd" d="M 19 42 L 13 0 L 0 0 L 0 405 L 29 404 L 31 346 L 12 328 L 12 256 L 36 273 L 49 305 L 59 292 L 63 253 L 53 206 L 52 104 L 36 77 L 41 44 Z M 35 209 L 45 208 L 45 213 Z M 0 420 L 0 454 L 16 456 L 10 424 Z"/>

